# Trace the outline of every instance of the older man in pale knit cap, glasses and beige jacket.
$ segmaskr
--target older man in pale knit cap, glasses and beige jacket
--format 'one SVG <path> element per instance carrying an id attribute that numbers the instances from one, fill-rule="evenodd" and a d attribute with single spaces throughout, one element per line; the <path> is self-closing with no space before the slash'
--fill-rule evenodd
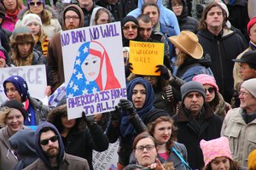
<path id="1" fill-rule="evenodd" d="M 256 78 L 241 84 L 240 107 L 230 110 L 224 118 L 221 135 L 230 140 L 234 161 L 247 167 L 247 156 L 256 149 Z"/>

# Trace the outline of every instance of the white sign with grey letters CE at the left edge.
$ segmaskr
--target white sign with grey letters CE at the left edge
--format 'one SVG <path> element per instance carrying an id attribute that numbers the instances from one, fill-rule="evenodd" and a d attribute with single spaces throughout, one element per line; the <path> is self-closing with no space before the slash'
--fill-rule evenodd
<path id="1" fill-rule="evenodd" d="M 20 76 L 26 81 L 29 94 L 33 98 L 41 100 L 44 105 L 48 105 L 48 97 L 45 95 L 47 87 L 45 65 L 6 67 L 1 68 L 0 72 L 0 104 L 7 99 L 4 94 L 3 82 L 9 77 Z"/>

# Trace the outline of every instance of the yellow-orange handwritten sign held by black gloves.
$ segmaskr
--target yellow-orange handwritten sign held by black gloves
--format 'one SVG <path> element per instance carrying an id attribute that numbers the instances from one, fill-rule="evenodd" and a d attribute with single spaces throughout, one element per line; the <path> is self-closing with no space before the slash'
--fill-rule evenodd
<path id="1" fill-rule="evenodd" d="M 164 43 L 130 41 L 129 62 L 132 63 L 132 73 L 138 75 L 159 76 L 155 65 L 163 65 Z"/>

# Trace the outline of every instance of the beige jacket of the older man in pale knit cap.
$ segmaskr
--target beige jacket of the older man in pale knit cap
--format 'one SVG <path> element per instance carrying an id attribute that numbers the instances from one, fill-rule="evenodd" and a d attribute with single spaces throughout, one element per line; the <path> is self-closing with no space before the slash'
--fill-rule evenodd
<path id="1" fill-rule="evenodd" d="M 256 149 L 256 119 L 246 123 L 243 118 L 245 114 L 241 108 L 230 110 L 224 119 L 221 136 L 229 139 L 232 158 L 239 165 L 247 167 L 247 156 Z"/>

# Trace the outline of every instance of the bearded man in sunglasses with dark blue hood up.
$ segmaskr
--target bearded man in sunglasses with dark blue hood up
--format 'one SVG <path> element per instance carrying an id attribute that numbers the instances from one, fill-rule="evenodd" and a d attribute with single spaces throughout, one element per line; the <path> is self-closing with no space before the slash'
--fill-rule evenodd
<path id="1" fill-rule="evenodd" d="M 26 167 L 26 170 L 90 169 L 88 162 L 84 158 L 65 153 L 61 134 L 51 123 L 44 122 L 39 125 L 34 140 L 39 159 Z"/>

